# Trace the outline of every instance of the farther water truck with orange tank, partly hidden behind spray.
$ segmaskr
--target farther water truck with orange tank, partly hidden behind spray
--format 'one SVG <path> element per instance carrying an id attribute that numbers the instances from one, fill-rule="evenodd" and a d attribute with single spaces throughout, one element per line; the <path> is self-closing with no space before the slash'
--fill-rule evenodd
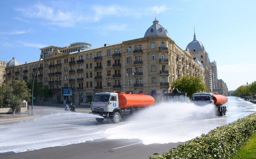
<path id="1" fill-rule="evenodd" d="M 227 109 L 223 104 L 225 104 L 227 101 L 228 100 L 225 96 L 212 93 L 194 93 L 191 99 L 191 102 L 195 103 L 196 105 L 215 105 L 218 116 L 226 115 Z"/>

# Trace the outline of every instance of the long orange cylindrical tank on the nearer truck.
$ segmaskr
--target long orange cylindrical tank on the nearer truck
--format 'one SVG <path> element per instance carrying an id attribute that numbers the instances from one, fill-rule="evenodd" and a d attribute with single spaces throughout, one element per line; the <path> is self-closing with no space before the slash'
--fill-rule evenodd
<path id="1" fill-rule="evenodd" d="M 150 95 L 125 94 L 124 92 L 118 93 L 118 104 L 120 108 L 128 107 L 148 107 L 155 104 L 155 99 Z"/>

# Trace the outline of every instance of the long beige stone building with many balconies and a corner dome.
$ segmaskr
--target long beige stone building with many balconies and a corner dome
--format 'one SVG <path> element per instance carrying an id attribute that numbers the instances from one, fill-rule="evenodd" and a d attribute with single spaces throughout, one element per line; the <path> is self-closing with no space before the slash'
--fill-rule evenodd
<path id="1" fill-rule="evenodd" d="M 41 88 L 52 90 L 52 98 L 39 96 L 38 102 L 65 99 L 83 105 L 102 91 L 144 93 L 161 101 L 163 93 L 172 91 L 172 82 L 187 73 L 205 76 L 199 58 L 193 59 L 189 51 L 177 46 L 157 19 L 143 38 L 94 48 L 84 42 L 48 46 L 40 49 L 40 55 L 40 62 L 14 62 L 6 67 L 7 79 L 31 83 L 35 75 Z M 64 87 L 73 88 L 72 96 L 62 96 Z"/>

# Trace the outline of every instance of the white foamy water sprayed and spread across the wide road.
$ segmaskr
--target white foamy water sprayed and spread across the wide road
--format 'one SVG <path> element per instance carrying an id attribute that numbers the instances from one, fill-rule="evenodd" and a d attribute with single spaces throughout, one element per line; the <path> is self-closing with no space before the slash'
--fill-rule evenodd
<path id="1" fill-rule="evenodd" d="M 230 97 L 226 116 L 216 117 L 213 105 L 162 103 L 118 124 L 112 124 L 110 120 L 100 124 L 95 121 L 100 116 L 92 114 L 35 110 L 35 114 L 40 116 L 33 120 L 0 125 L 0 152 L 24 152 L 102 138 L 139 139 L 143 144 L 184 142 L 254 113 L 255 106 Z"/>

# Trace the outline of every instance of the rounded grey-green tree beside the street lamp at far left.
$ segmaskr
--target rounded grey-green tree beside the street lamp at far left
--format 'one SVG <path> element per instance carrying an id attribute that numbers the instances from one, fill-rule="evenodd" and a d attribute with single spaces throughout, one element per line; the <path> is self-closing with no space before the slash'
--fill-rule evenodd
<path id="1" fill-rule="evenodd" d="M 30 89 L 27 87 L 27 83 L 19 78 L 17 80 L 8 80 L 1 90 L 1 94 L 4 94 L 3 102 L 9 103 L 13 111 L 13 116 L 17 108 L 20 107 L 22 100 L 30 101 Z"/>

